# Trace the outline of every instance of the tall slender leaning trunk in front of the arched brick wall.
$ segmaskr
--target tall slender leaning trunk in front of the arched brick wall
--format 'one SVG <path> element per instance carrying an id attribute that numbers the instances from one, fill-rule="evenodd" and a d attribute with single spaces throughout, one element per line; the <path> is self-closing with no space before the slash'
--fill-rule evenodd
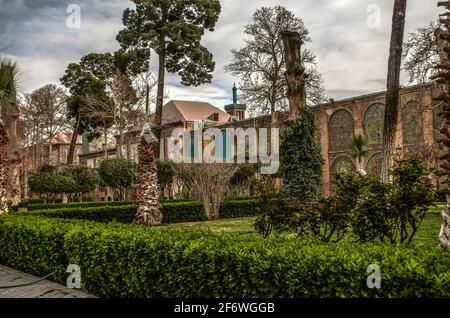
<path id="1" fill-rule="evenodd" d="M 395 0 L 392 16 L 391 47 L 387 77 L 386 110 L 383 128 L 383 162 L 381 166 L 382 181 L 389 181 L 391 155 L 395 149 L 395 135 L 399 109 L 400 68 L 402 62 L 403 34 L 405 30 L 407 0 Z"/>

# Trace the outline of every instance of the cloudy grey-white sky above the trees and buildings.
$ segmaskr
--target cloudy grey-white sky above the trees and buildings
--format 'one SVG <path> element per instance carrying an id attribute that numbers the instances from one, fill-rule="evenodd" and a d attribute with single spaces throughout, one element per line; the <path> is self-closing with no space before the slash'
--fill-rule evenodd
<path id="1" fill-rule="evenodd" d="M 183 87 L 176 75 L 169 75 L 169 99 L 209 101 L 219 107 L 227 104 L 233 82 L 238 81 L 224 72 L 232 58 L 230 50 L 242 47 L 244 26 L 251 22 L 253 12 L 274 5 L 283 5 L 304 20 L 313 40 L 309 48 L 318 57 L 329 97 L 383 90 L 393 2 L 221 0 L 219 22 L 203 41 L 216 60 L 213 82 L 198 88 Z M 81 8 L 80 28 L 67 26 L 71 4 Z M 59 84 L 69 63 L 91 52 L 118 48 L 115 37 L 123 28 L 123 10 L 132 6 L 129 0 L 0 0 L 0 54 L 17 60 L 23 92 Z M 434 0 L 409 0 L 406 32 L 427 25 L 438 13 Z M 155 57 L 152 64 L 156 72 Z"/>

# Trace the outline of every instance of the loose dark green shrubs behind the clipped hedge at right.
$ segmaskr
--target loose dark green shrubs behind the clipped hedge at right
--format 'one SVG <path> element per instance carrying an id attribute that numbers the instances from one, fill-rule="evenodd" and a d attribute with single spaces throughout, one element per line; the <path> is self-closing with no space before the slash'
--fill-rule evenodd
<path id="1" fill-rule="evenodd" d="M 433 186 L 429 172 L 414 159 L 399 161 L 391 174 L 393 183 L 385 184 L 338 173 L 334 192 L 311 203 L 263 197 L 255 227 L 264 236 L 289 231 L 337 242 L 351 234 L 363 243 L 410 244 L 434 202 Z"/>

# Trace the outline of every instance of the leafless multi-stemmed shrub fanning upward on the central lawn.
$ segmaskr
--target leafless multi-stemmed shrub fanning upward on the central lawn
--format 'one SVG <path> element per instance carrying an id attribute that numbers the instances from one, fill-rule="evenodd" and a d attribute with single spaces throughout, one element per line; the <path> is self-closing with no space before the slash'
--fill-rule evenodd
<path id="1" fill-rule="evenodd" d="M 233 164 L 179 164 L 177 173 L 194 197 L 203 201 L 206 218 L 219 218 L 220 201 L 237 167 Z"/>

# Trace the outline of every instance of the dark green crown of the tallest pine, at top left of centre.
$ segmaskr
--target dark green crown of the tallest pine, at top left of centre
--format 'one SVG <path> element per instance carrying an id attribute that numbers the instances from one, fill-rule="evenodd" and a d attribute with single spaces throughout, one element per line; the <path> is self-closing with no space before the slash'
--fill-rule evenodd
<path id="1" fill-rule="evenodd" d="M 170 73 L 181 76 L 184 85 L 199 86 L 212 79 L 212 54 L 200 44 L 205 29 L 213 31 L 219 18 L 217 0 L 133 0 L 136 9 L 126 9 L 125 29 L 117 40 L 123 49 L 154 49 Z M 159 65 L 164 67 L 164 65 Z"/>

